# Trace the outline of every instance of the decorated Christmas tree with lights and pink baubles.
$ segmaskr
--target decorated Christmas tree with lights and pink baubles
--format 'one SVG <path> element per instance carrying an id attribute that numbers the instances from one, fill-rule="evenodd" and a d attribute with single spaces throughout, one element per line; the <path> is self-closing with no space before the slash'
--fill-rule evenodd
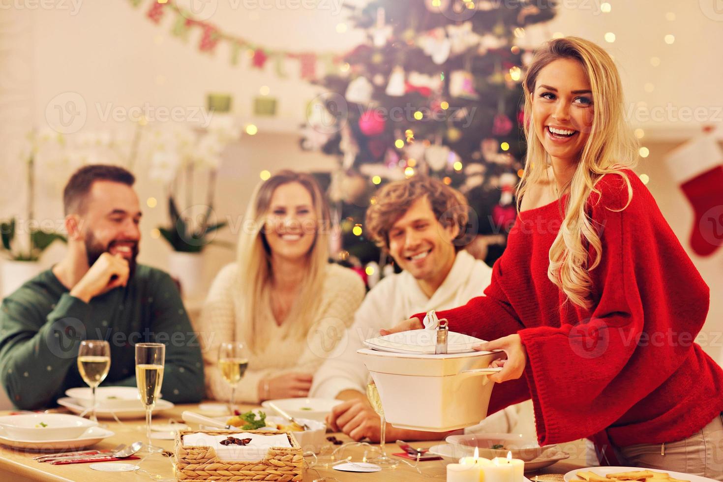
<path id="1" fill-rule="evenodd" d="M 330 193 L 344 233 L 341 258 L 378 260 L 362 229 L 373 192 L 422 174 L 466 194 L 469 231 L 478 235 L 471 246 L 481 240 L 479 257 L 491 264 L 515 218 L 513 186 L 523 167 L 521 79 L 534 48 L 525 27 L 552 19 L 555 1 L 380 0 L 348 8 L 367 42 L 343 56 L 338 74 L 316 82 L 328 93 L 309 106 L 301 140 L 339 158 Z"/>

